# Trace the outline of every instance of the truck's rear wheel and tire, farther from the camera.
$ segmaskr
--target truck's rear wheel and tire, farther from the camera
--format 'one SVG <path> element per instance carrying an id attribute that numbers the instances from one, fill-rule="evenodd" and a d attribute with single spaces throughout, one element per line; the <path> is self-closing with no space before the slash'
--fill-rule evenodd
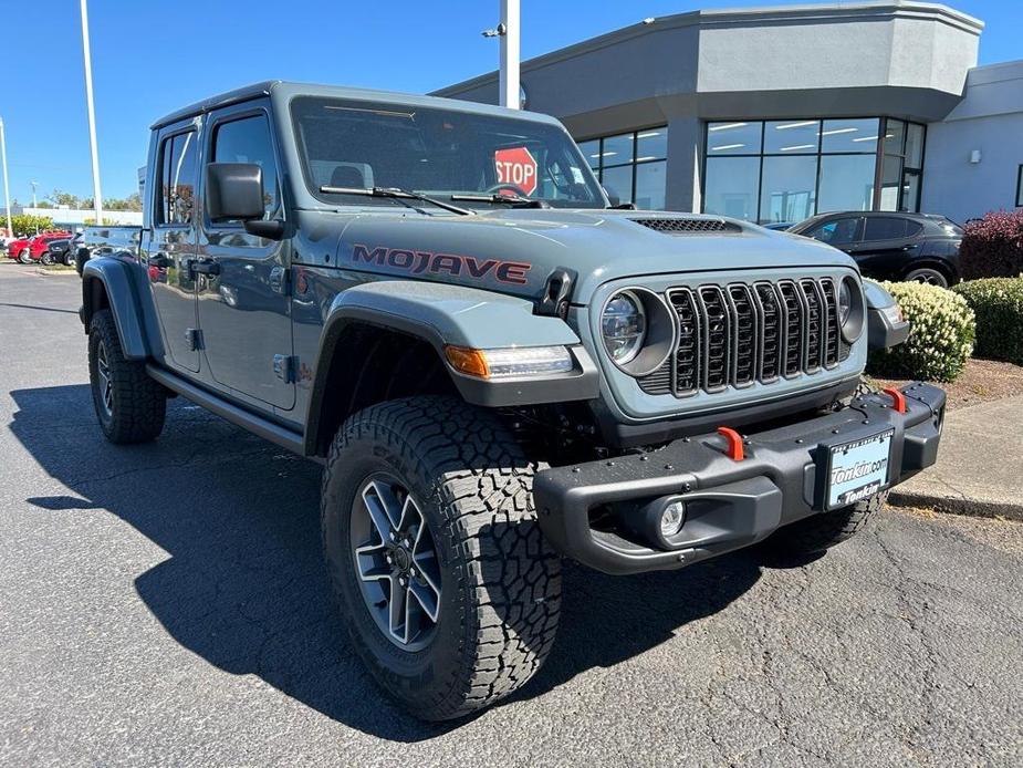
<path id="1" fill-rule="evenodd" d="M 127 360 L 109 310 L 93 315 L 88 328 L 88 378 L 100 428 L 111 443 L 148 443 L 164 429 L 167 391 Z"/>

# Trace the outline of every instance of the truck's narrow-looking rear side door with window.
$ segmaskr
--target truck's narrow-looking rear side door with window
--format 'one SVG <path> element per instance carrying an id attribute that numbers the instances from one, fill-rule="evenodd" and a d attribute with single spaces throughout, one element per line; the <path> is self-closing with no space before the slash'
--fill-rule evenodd
<path id="1" fill-rule="evenodd" d="M 164 363 L 191 372 L 199 370 L 201 343 L 196 316 L 196 281 L 191 273 L 197 242 L 197 136 L 194 126 L 170 128 L 160 136 L 156 166 L 159 183 L 146 253 L 149 286 L 164 339 Z"/>

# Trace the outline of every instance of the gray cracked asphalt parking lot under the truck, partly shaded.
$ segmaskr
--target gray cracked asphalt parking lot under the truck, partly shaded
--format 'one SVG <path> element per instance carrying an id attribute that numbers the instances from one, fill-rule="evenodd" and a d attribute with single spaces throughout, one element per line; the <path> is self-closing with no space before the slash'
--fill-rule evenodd
<path id="1" fill-rule="evenodd" d="M 413 720 L 344 636 L 319 468 L 180 398 L 105 443 L 79 290 L 0 264 L 0 765 L 1023 762 L 1023 523 L 895 510 L 802 564 L 570 568 L 521 695 Z"/>

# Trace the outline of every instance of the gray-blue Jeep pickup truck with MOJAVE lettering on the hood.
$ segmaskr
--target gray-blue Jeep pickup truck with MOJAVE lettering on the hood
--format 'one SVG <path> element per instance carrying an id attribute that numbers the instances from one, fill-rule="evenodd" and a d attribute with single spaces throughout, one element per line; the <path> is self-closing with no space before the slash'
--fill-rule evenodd
<path id="1" fill-rule="evenodd" d="M 530 679 L 563 558 L 822 551 L 935 461 L 944 394 L 860 385 L 908 325 L 849 257 L 613 207 L 551 117 L 262 83 L 155 123 L 147 178 L 83 267 L 103 433 L 180 395 L 322 463 L 352 645 L 420 717 Z"/>

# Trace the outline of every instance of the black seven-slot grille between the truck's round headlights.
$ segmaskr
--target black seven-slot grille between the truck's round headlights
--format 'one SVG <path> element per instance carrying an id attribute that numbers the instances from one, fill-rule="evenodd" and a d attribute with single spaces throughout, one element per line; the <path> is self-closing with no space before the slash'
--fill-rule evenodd
<path id="1" fill-rule="evenodd" d="M 833 369 L 848 357 L 832 278 L 672 288 L 679 341 L 644 392 L 688 397 Z"/>

